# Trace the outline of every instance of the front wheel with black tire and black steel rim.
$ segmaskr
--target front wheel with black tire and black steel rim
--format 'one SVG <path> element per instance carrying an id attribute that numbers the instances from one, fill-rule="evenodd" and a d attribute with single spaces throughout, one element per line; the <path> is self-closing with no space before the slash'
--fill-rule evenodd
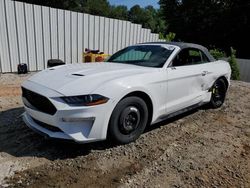
<path id="1" fill-rule="evenodd" d="M 109 122 L 108 137 L 117 144 L 135 141 L 144 132 L 148 108 L 139 97 L 127 97 L 115 107 Z"/>

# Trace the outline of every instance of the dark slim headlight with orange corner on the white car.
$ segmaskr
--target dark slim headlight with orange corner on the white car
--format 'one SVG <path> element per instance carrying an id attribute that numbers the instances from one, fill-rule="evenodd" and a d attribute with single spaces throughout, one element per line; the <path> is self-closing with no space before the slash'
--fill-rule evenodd
<path id="1" fill-rule="evenodd" d="M 108 102 L 109 98 L 102 95 L 81 95 L 72 97 L 61 97 L 67 104 L 72 106 L 95 106 Z"/>

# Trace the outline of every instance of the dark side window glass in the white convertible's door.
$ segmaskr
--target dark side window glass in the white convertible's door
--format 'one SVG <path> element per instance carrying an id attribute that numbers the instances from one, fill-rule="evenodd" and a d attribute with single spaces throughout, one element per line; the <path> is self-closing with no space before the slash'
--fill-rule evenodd
<path id="1" fill-rule="evenodd" d="M 209 62 L 207 56 L 198 49 L 186 48 L 183 49 L 173 60 L 172 66 L 188 66 L 198 65 Z"/>

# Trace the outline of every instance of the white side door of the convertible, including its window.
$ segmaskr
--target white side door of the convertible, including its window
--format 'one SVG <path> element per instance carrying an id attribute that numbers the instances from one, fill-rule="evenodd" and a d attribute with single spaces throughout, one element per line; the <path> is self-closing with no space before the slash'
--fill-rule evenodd
<path id="1" fill-rule="evenodd" d="M 167 68 L 167 114 L 202 101 L 206 74 L 200 50 L 186 48 L 179 52 Z"/>

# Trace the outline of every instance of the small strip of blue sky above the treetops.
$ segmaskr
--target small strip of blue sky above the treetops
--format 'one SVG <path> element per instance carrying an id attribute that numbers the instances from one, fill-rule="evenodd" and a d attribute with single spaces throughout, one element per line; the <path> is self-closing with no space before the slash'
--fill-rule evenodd
<path id="1" fill-rule="evenodd" d="M 109 0 L 111 5 L 126 5 L 128 8 L 138 4 L 141 7 L 145 7 L 147 5 L 152 5 L 155 8 L 159 8 L 158 5 L 159 0 Z"/>

